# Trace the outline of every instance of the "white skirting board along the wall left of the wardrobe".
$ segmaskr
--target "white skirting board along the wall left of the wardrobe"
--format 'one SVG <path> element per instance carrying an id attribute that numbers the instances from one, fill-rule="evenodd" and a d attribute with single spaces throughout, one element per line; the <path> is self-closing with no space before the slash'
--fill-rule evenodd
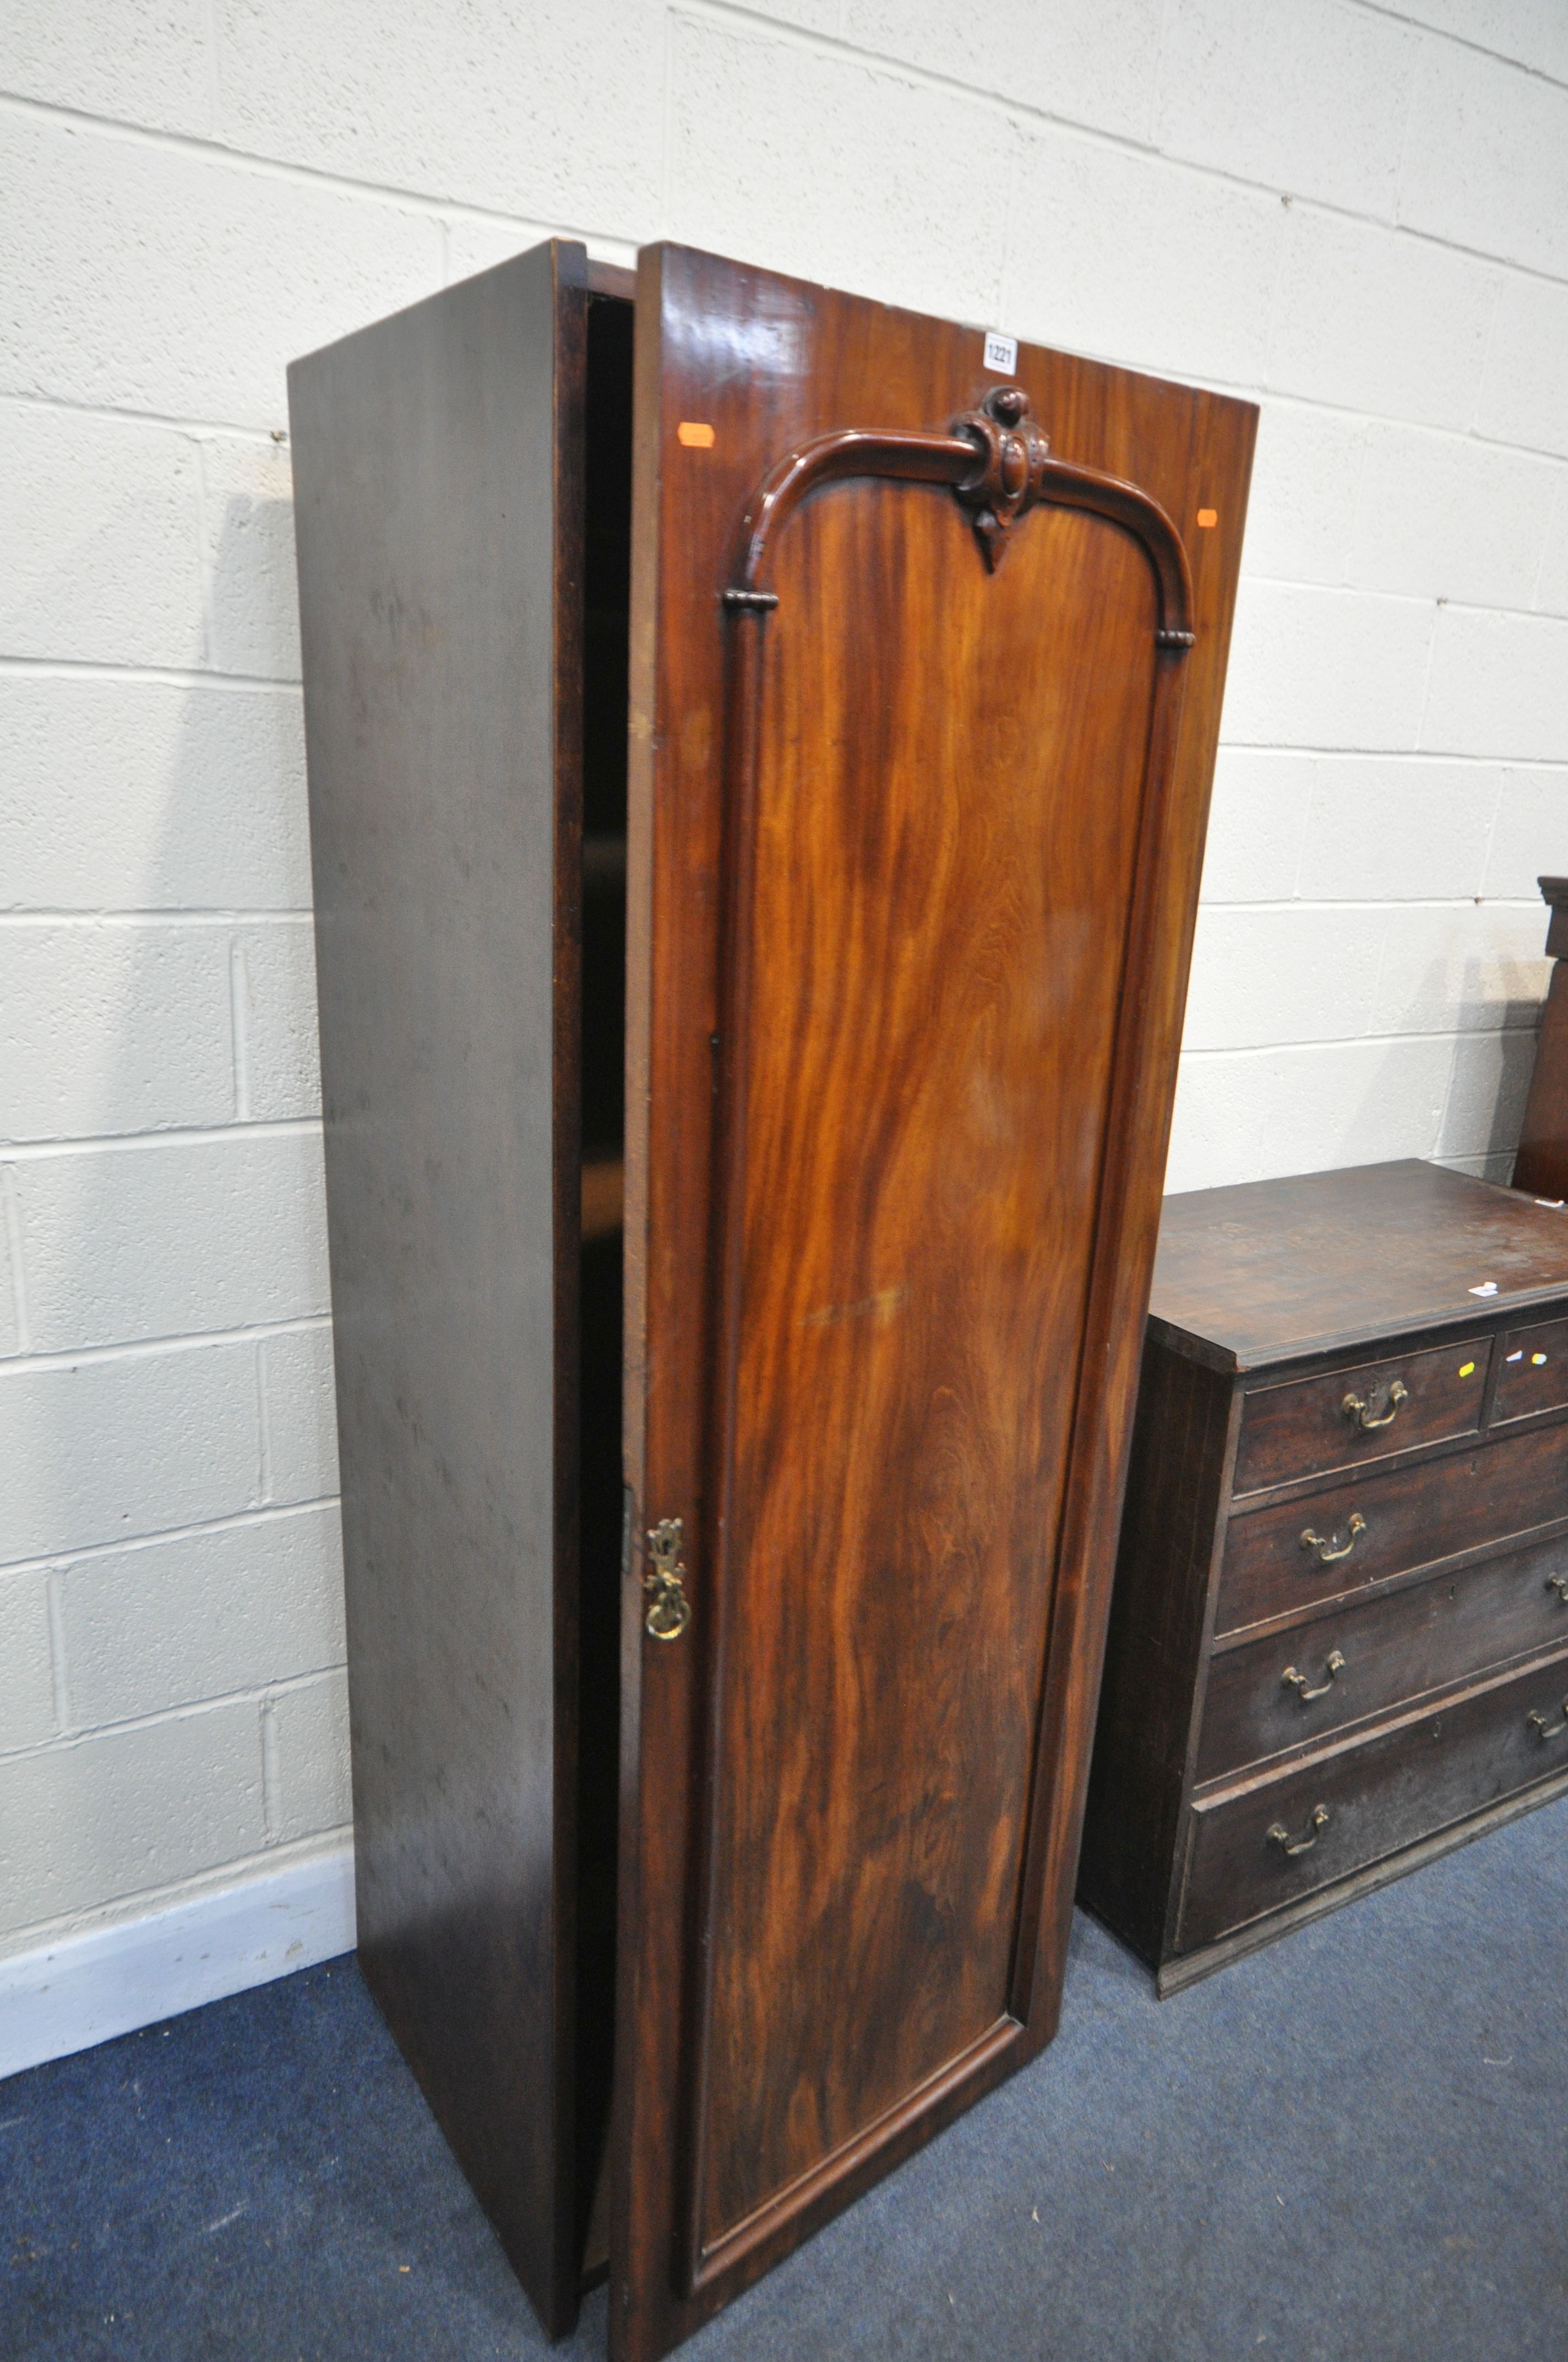
<path id="1" fill-rule="evenodd" d="M 0 1960 L 0 2076 L 354 1949 L 354 1849 Z"/>

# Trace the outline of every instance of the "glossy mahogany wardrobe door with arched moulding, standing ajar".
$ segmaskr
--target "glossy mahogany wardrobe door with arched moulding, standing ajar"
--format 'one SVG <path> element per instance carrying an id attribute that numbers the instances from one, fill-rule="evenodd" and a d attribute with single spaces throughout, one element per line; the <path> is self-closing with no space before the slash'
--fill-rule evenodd
<path id="1" fill-rule="evenodd" d="M 1056 2027 L 1254 423 L 642 255 L 626 2357 Z"/>

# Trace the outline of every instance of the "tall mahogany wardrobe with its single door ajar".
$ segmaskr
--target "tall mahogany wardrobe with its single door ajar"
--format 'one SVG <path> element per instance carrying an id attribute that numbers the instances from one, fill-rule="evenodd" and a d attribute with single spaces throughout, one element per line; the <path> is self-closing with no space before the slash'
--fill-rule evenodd
<path id="1" fill-rule="evenodd" d="M 290 376 L 361 1958 L 626 2357 L 1058 2017 L 1256 418 L 982 347 Z"/>

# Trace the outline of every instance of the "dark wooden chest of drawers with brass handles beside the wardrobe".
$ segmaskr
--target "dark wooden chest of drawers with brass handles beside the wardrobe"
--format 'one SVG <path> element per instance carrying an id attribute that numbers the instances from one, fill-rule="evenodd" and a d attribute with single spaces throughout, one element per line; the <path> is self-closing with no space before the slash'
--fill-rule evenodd
<path id="1" fill-rule="evenodd" d="M 1169 1994 L 1568 1783 L 1568 1212 L 1167 1198 L 1079 1899 Z"/>

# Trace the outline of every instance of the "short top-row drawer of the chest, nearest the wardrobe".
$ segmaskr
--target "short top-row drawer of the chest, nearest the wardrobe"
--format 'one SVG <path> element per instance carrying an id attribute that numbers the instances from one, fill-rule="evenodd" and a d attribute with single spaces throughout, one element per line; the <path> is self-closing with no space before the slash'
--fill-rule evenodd
<path id="1" fill-rule="evenodd" d="M 1490 1337 L 1259 1386 L 1242 1403 L 1235 1493 L 1386 1460 L 1481 1427 Z M 1568 1363 L 1566 1363 L 1568 1368 Z"/>

